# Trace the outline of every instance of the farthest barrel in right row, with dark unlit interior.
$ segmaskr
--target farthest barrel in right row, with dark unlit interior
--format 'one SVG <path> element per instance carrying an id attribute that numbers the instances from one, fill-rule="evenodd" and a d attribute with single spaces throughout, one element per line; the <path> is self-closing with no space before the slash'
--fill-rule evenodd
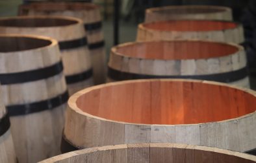
<path id="1" fill-rule="evenodd" d="M 224 6 L 162 6 L 148 8 L 146 10 L 145 22 L 167 21 L 175 19 L 203 19 L 232 21 L 231 8 Z"/>

